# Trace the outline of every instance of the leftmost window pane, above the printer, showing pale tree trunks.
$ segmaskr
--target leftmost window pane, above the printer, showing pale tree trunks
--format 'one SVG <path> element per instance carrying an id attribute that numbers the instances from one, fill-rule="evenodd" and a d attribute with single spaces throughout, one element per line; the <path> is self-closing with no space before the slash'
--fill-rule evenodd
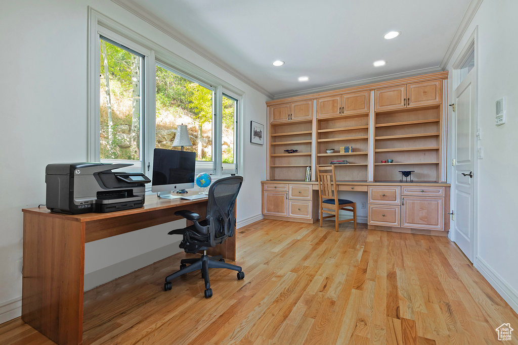
<path id="1" fill-rule="evenodd" d="M 99 158 L 139 167 L 143 56 L 104 37 L 99 42 Z"/>

